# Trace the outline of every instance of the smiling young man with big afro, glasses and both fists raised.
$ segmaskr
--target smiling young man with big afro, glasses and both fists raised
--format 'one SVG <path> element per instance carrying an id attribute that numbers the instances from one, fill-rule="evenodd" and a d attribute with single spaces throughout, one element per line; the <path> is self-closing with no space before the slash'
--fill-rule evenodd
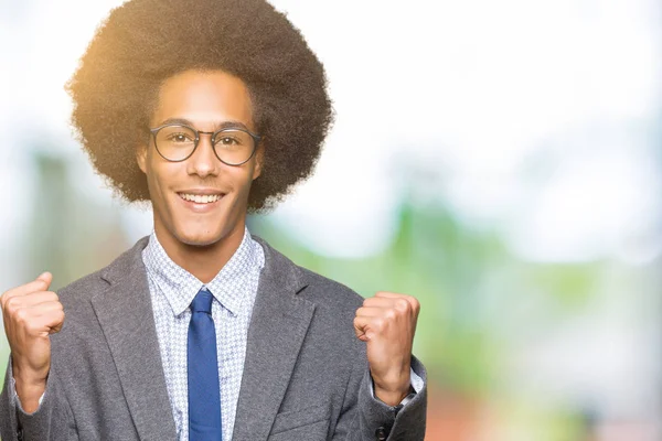
<path id="1" fill-rule="evenodd" d="M 418 302 L 363 301 L 245 226 L 310 174 L 332 119 L 282 14 L 132 0 L 68 89 L 94 166 L 151 202 L 154 232 L 60 295 L 47 272 L 2 294 L 3 440 L 423 439 Z"/>

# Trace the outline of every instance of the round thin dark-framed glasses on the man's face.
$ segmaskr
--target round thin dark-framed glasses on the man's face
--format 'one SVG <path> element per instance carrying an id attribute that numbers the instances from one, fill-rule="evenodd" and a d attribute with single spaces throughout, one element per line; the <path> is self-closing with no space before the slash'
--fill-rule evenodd
<path id="1" fill-rule="evenodd" d="M 217 131 L 200 131 L 184 125 L 164 125 L 149 130 L 154 137 L 159 154 L 170 162 L 185 161 L 200 143 L 200 135 L 211 135 L 214 154 L 227 165 L 242 165 L 247 162 L 261 137 L 248 130 L 231 128 Z"/>

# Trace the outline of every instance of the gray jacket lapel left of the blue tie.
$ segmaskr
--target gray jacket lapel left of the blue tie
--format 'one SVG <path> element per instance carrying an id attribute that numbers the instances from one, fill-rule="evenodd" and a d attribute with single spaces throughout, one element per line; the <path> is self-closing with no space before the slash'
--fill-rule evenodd
<path id="1" fill-rule="evenodd" d="M 177 429 L 166 387 L 140 240 L 110 265 L 110 288 L 92 305 L 110 347 L 129 411 L 141 440 L 174 440 Z"/>

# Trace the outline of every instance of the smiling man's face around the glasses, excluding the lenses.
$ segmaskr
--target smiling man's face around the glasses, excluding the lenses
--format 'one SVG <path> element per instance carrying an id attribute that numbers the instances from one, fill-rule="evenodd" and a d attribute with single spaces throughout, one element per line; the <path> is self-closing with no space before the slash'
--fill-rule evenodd
<path id="1" fill-rule="evenodd" d="M 200 131 L 231 125 L 256 132 L 246 85 L 221 71 L 186 71 L 163 83 L 150 127 L 172 120 L 185 121 Z M 138 165 L 147 175 L 161 244 L 167 249 L 182 244 L 203 247 L 229 239 L 238 246 L 248 192 L 259 176 L 261 158 L 259 147 L 248 162 L 226 165 L 214 154 L 209 135 L 200 136 L 194 153 L 182 162 L 163 159 L 153 138 L 139 148 Z"/>

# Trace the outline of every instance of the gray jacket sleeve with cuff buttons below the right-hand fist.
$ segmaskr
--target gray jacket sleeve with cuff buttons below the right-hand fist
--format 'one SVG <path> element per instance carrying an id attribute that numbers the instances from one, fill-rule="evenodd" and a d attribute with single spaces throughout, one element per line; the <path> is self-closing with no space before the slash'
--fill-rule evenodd
<path id="1" fill-rule="evenodd" d="M 357 364 L 348 384 L 345 399 L 333 433 L 334 441 L 376 441 L 383 433 L 387 441 L 423 441 L 427 410 L 427 374 L 412 357 L 412 368 L 423 380 L 423 389 L 397 410 L 373 396 L 370 370 Z"/>

